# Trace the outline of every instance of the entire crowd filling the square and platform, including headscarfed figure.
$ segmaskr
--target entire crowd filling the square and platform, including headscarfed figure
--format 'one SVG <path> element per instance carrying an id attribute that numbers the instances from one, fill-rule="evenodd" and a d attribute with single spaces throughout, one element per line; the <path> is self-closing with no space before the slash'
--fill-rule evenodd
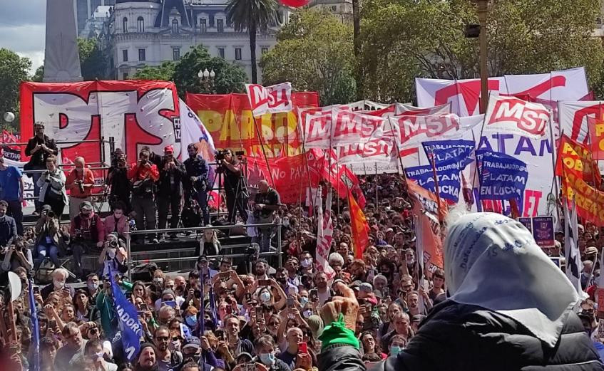
<path id="1" fill-rule="evenodd" d="M 163 156 L 143 148 L 131 164 L 116 150 L 106 179 L 112 212 L 103 220 L 93 209 L 94 178 L 84 160 L 74 160 L 75 168 L 65 175 L 56 167 L 55 150 L 43 125 L 36 124 L 27 150 L 35 158 L 27 170 L 37 170 L 39 197 L 39 221 L 31 231 L 22 227 L 21 171 L 0 159 L 1 269 L 21 281 L 16 301 L 7 300 L 6 291 L 2 297 L 0 369 L 36 370 L 38 364 L 43 371 L 340 371 L 369 365 L 384 370 L 541 370 L 553 364 L 604 369 L 593 348 L 604 348 L 595 298 L 604 232 L 592 225 L 582 226 L 578 236 L 589 297 L 575 312 L 567 312 L 579 298 L 548 258 L 561 256 L 563 234 L 556 234 L 556 248 L 543 254 L 516 221 L 470 214 L 451 221 L 446 270 L 422 269 L 414 199 L 406 180 L 399 174 L 360 177 L 369 224 L 362 257 L 354 255 L 347 202 L 324 187 L 322 196 L 327 199 L 333 192 L 335 200 L 327 205 L 334 223 L 327 258 L 334 275 L 329 276 L 317 261 L 316 216 L 304 205 L 281 204 L 279 194 L 263 181 L 249 201 L 240 162 L 225 151 L 219 160 L 225 223 L 280 218 L 282 266 L 257 254 L 243 262 L 220 257 L 217 234 L 207 229 L 191 257 L 196 264 L 190 272 L 173 276 L 155 269 L 150 281 L 131 282 L 123 275 L 128 216 L 139 229 L 165 229 L 169 215 L 173 228 L 192 210 L 197 225 L 211 224 L 208 161 L 195 145 L 184 162 L 173 157 L 171 147 Z M 69 224 L 59 218 L 67 204 Z M 276 227 L 256 231 L 257 252 L 275 246 Z M 139 237 L 139 242 L 165 238 Z M 469 241 L 474 243 L 466 250 Z M 524 244 L 522 254 L 509 248 L 513 244 Z M 82 257 L 93 253 L 98 254 L 97 269 L 83 269 Z M 59 261 L 66 254 L 73 255 L 73 273 L 84 285 L 68 282 L 71 272 Z M 38 285 L 34 272 L 48 262 L 54 267 L 51 282 Z M 556 286 L 552 297 L 547 282 L 525 283 L 518 277 L 523 273 L 529 281 L 547 277 Z M 130 359 L 111 278 L 134 305 L 142 328 L 140 350 Z M 531 318 L 540 325 L 535 327 Z"/>

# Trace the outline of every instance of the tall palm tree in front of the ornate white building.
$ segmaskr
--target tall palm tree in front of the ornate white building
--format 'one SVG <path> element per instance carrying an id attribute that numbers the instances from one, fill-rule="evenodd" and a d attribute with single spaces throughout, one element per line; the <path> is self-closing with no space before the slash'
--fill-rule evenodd
<path id="1" fill-rule="evenodd" d="M 247 29 L 250 33 L 250 56 L 252 59 L 252 83 L 257 83 L 256 33 L 265 31 L 270 24 L 277 23 L 277 1 L 275 0 L 229 0 L 226 8 L 227 21 L 236 31 Z"/>

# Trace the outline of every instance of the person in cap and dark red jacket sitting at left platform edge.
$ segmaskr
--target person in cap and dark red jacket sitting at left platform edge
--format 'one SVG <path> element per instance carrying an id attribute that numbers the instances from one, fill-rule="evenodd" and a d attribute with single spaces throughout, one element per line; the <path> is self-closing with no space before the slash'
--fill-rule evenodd
<path id="1" fill-rule="evenodd" d="M 73 273 L 84 278 L 82 271 L 82 255 L 98 251 L 105 241 L 105 227 L 98 214 L 95 214 L 92 204 L 84 201 L 80 204 L 80 213 L 71 221 L 71 250 L 73 251 Z"/>

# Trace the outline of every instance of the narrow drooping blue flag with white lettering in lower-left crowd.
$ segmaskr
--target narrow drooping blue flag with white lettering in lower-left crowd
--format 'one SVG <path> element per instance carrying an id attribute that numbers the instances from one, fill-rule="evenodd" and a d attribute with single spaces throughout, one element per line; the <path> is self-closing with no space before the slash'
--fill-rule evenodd
<path id="1" fill-rule="evenodd" d="M 121 331 L 124 355 L 132 362 L 140 350 L 140 337 L 143 335 L 143 327 L 138 321 L 138 313 L 133 303 L 130 303 L 122 293 L 120 286 L 113 279 L 113 272 L 109 268 L 109 281 L 113 293 L 113 308 L 118 314 L 118 324 Z"/>

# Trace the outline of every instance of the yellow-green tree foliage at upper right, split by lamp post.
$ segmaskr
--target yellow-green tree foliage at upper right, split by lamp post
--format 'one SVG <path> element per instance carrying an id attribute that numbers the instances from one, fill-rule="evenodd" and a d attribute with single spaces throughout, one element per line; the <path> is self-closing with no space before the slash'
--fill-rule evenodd
<path id="1" fill-rule="evenodd" d="M 544 73 L 585 66 L 600 85 L 604 49 L 591 38 L 595 0 L 491 0 L 488 73 Z M 477 78 L 478 39 L 464 38 L 478 23 L 468 0 L 367 0 L 362 9 L 364 93 L 409 101 L 417 76 Z"/>

